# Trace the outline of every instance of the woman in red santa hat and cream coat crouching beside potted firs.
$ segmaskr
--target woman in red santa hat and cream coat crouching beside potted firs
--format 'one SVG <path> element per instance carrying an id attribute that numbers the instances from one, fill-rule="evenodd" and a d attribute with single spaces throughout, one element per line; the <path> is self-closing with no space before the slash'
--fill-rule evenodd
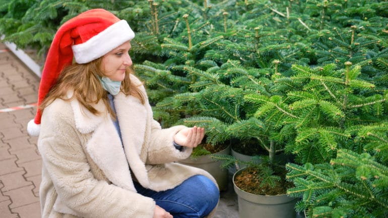
<path id="1" fill-rule="evenodd" d="M 211 217 L 214 178 L 175 161 L 189 157 L 204 129 L 162 129 L 152 117 L 128 55 L 134 32 L 94 9 L 54 36 L 28 124 L 39 135 L 42 217 Z M 73 63 L 73 58 L 75 63 Z"/>

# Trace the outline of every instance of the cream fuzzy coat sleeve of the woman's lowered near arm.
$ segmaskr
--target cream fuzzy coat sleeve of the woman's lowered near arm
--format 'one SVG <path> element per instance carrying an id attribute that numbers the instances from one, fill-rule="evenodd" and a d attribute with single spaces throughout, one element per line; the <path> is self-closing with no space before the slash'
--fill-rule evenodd
<path id="1" fill-rule="evenodd" d="M 64 112 L 63 104 L 57 108 L 50 106 L 42 116 L 44 125 L 41 125 L 38 149 L 59 198 L 56 201 L 81 217 L 152 218 L 153 199 L 94 177 L 73 114 Z"/>

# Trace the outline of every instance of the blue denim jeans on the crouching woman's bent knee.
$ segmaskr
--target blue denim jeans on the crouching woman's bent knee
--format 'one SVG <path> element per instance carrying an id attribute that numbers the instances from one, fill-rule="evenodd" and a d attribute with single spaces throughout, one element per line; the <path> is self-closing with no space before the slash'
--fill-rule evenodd
<path id="1" fill-rule="evenodd" d="M 174 218 L 203 218 L 216 207 L 220 197 L 214 182 L 202 175 L 192 176 L 175 188 L 160 192 L 134 183 L 138 193 L 153 198 Z"/>

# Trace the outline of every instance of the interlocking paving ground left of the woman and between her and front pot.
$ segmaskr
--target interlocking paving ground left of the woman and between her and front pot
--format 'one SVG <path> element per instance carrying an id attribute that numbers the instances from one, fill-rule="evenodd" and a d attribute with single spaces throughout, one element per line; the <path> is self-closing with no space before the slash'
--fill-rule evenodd
<path id="1" fill-rule="evenodd" d="M 0 42 L 0 217 L 39 218 L 41 157 L 29 136 L 39 77 Z M 231 173 L 229 175 L 231 177 Z M 231 179 L 230 179 L 231 181 Z M 214 218 L 238 218 L 237 196 L 229 184 Z"/>

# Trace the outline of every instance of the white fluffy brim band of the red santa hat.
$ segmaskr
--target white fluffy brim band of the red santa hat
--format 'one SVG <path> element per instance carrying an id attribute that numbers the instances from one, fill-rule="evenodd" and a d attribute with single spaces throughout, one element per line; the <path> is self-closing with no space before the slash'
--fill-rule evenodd
<path id="1" fill-rule="evenodd" d="M 112 49 L 135 37 L 130 25 L 125 20 L 120 20 L 88 41 L 73 45 L 74 58 L 77 63 L 87 63 L 102 57 Z"/>

